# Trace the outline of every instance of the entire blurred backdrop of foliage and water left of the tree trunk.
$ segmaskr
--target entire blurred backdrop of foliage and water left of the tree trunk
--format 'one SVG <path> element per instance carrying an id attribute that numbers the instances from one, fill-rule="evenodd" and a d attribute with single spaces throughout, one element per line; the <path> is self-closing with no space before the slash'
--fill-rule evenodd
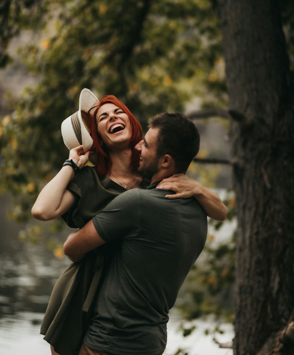
<path id="1" fill-rule="evenodd" d="M 228 98 L 214 2 L 2 0 L 0 14 L 1 354 L 49 354 L 38 333 L 52 287 L 69 263 L 62 245 L 70 228 L 61 219 L 33 220 L 30 209 L 68 157 L 61 122 L 78 110 L 84 87 L 98 98 L 116 95 L 144 131 L 162 111 L 183 111 L 198 127 L 200 152 L 188 176 L 221 196 L 228 218 L 209 220 L 205 252 L 171 313 L 166 353 L 232 354 L 212 340 L 233 338 L 235 251 Z"/>

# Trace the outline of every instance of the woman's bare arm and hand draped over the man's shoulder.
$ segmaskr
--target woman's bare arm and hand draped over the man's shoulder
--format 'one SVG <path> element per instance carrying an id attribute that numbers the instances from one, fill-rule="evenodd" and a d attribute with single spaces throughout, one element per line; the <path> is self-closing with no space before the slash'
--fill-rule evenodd
<path id="1" fill-rule="evenodd" d="M 190 180 L 184 174 L 175 174 L 170 178 L 163 179 L 157 188 L 176 192 L 174 195 L 166 195 L 168 198 L 187 198 L 194 196 L 201 204 L 207 216 L 223 221 L 227 217 L 227 207 L 224 206 L 220 197 L 207 189 L 198 181 Z"/>

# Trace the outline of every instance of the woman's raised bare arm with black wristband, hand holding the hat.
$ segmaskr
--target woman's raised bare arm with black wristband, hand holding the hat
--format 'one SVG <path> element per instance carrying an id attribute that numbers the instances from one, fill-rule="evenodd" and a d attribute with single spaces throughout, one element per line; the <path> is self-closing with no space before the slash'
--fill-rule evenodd
<path id="1" fill-rule="evenodd" d="M 79 168 L 82 168 L 88 161 L 89 153 L 83 154 L 83 146 L 79 146 L 70 151 L 69 159 L 72 159 Z M 73 168 L 65 165 L 44 186 L 32 208 L 32 215 L 36 219 L 43 221 L 54 219 L 61 216 L 73 206 L 75 197 L 73 193 L 66 190 L 67 185 L 73 177 Z"/>

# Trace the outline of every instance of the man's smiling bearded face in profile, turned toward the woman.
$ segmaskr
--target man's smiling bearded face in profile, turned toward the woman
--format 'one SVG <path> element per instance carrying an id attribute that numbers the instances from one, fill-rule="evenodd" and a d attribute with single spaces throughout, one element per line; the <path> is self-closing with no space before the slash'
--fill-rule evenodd
<path id="1" fill-rule="evenodd" d="M 159 158 L 156 154 L 158 133 L 159 128 L 150 128 L 145 134 L 144 139 L 135 146 L 135 149 L 140 152 L 140 165 L 138 171 L 149 179 L 159 171 Z"/>

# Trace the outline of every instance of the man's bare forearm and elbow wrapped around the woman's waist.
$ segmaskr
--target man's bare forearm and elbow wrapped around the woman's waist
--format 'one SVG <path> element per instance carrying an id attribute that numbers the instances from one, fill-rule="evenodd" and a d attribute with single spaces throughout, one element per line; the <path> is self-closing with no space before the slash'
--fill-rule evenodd
<path id="1" fill-rule="evenodd" d="M 96 231 L 93 220 L 90 220 L 83 228 L 67 237 L 63 244 L 63 252 L 75 263 L 81 261 L 88 251 L 94 250 L 104 243 L 105 241 Z"/>

